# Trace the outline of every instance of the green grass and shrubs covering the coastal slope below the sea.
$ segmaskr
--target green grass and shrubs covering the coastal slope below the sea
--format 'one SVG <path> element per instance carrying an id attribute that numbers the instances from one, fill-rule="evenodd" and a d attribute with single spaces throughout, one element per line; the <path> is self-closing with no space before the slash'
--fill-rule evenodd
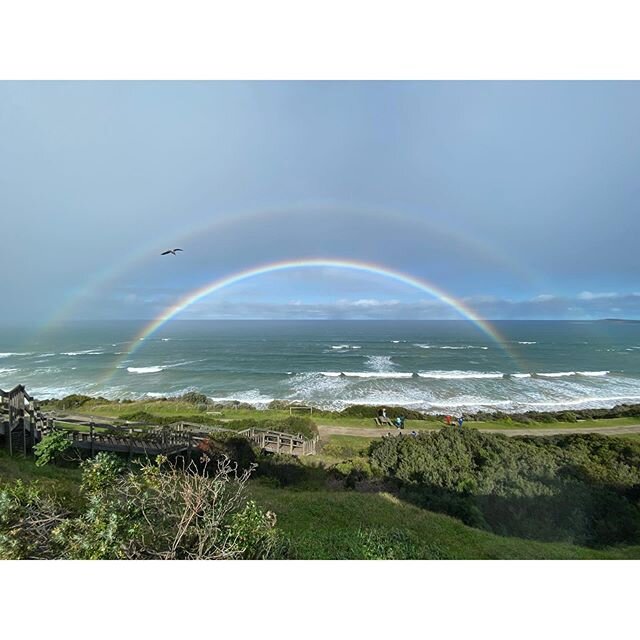
<path id="1" fill-rule="evenodd" d="M 78 466 L 55 436 L 38 445 L 35 464 L 0 452 L 0 557 L 640 557 L 640 437 L 507 438 L 471 428 L 617 426 L 636 420 L 637 405 L 478 414 L 463 429 L 397 409 L 411 419 L 404 433 L 331 435 L 318 455 L 294 458 L 261 452 L 238 432 L 315 438 L 318 421 L 367 425 L 377 436 L 375 409 L 314 411 L 311 419 L 289 415 L 285 405 L 213 408 L 195 392 L 144 402 L 56 402 L 61 411 L 112 420 L 183 420 L 208 436 L 186 470 L 148 460 L 127 467 L 102 454 Z M 201 505 L 195 511 L 194 496 Z M 208 509 L 224 516 L 215 527 Z M 180 532 L 184 522 L 188 530 Z"/>

